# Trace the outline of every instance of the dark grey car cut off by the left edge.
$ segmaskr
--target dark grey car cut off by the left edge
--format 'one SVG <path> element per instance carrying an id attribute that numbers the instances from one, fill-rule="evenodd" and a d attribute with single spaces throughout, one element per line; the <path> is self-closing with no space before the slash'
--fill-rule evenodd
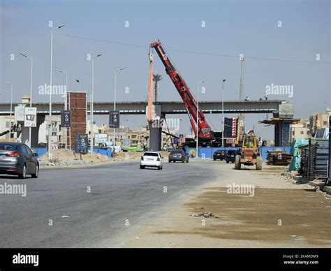
<path id="1" fill-rule="evenodd" d="M 38 178 L 38 154 L 22 143 L 0 142 L 0 174 L 18 175 L 25 179 L 27 175 Z"/>

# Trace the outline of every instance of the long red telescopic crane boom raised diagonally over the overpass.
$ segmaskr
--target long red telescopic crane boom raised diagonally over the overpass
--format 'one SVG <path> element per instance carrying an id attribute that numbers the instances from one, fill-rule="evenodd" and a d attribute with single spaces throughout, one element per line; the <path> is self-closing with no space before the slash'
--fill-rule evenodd
<path id="1" fill-rule="evenodd" d="M 196 103 L 196 100 L 193 98 L 189 87 L 187 87 L 186 82 L 184 81 L 182 76 L 179 75 L 178 71 L 172 65 L 170 59 L 167 57 L 167 54 L 165 53 L 161 45 L 161 41 L 157 40 L 154 43 L 151 43 L 149 47 L 152 47 L 156 50 L 163 65 L 165 66 L 165 72 L 169 75 L 179 95 L 182 97 L 186 110 L 189 114 L 192 129 L 196 136 L 198 136 L 198 138 L 205 139 L 212 138 L 212 131 L 209 124 L 205 120 L 205 115 L 203 114 L 203 111 L 200 108 L 198 108 L 198 131 L 196 131 L 196 112 L 198 105 Z"/>

